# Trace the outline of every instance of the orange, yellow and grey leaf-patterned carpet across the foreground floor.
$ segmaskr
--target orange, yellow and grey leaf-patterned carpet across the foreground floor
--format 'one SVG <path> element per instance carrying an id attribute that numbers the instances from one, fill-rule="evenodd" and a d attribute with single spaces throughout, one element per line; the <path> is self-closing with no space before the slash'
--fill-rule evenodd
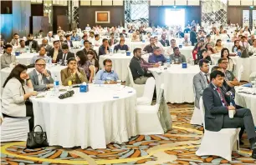
<path id="1" fill-rule="evenodd" d="M 169 104 L 173 129 L 164 135 L 139 135 L 122 144 L 110 143 L 106 149 L 49 147 L 23 153 L 25 143 L 3 143 L 1 164 L 256 164 L 250 157 L 248 140 L 228 162 L 215 156 L 197 157 L 202 128 L 192 126 L 192 104 Z"/>

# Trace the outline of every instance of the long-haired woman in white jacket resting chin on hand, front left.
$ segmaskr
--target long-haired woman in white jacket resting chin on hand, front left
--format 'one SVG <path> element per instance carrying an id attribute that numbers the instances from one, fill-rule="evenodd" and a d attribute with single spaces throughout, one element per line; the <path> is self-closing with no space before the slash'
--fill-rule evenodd
<path id="1" fill-rule="evenodd" d="M 18 64 L 3 83 L 3 117 L 30 117 L 29 130 L 33 130 L 33 106 L 28 98 L 37 95 L 27 73 L 28 67 Z"/>

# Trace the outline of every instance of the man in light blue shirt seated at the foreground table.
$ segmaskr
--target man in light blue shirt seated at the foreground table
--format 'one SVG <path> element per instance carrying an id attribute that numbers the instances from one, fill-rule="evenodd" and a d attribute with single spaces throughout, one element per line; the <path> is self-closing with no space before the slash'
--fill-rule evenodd
<path id="1" fill-rule="evenodd" d="M 104 69 L 101 69 L 96 74 L 95 83 L 104 84 L 107 83 L 107 79 L 110 79 L 110 84 L 115 84 L 118 80 L 118 76 L 115 71 L 112 70 L 112 61 L 105 59 L 103 61 Z"/>

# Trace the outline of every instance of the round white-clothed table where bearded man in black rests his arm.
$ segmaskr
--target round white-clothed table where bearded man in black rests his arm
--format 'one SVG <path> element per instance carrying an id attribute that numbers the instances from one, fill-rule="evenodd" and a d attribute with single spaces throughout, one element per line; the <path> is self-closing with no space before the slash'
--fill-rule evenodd
<path id="1" fill-rule="evenodd" d="M 193 77 L 200 71 L 198 66 L 187 64 L 187 68 L 182 68 L 182 64 L 172 64 L 166 70 L 163 67 L 154 67 L 148 70 L 156 79 L 156 94 L 159 92 L 161 83 L 165 84 L 166 102 L 194 102 L 192 82 Z"/>

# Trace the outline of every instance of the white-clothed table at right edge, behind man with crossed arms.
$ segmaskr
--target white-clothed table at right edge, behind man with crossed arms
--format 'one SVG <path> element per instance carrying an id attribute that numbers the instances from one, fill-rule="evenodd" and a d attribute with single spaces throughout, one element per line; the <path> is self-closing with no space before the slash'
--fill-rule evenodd
<path id="1" fill-rule="evenodd" d="M 219 58 L 220 58 L 220 54 L 212 54 L 211 55 L 212 64 L 217 64 Z M 251 56 L 251 57 L 243 58 L 243 57 L 235 56 L 235 57 L 231 57 L 231 59 L 235 63 L 235 67 L 233 71 L 234 75 L 238 76 L 239 69 L 243 65 L 243 73 L 242 73 L 241 80 L 249 81 L 250 74 L 252 72 L 256 72 L 256 65 L 255 65 L 256 57 Z"/>

